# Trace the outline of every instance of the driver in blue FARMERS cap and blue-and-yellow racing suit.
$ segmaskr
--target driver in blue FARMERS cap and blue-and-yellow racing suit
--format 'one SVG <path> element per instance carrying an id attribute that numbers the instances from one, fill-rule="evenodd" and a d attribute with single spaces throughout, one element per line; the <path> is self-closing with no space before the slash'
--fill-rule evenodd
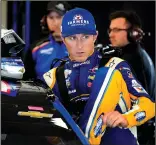
<path id="1" fill-rule="evenodd" d="M 79 115 L 75 121 L 91 144 L 137 145 L 134 129 L 154 116 L 155 103 L 126 61 L 113 57 L 101 66 L 102 55 L 94 50 L 97 35 L 89 11 L 68 11 L 62 37 L 70 60 L 43 77 L 67 110 Z M 67 92 L 61 90 L 61 68 Z"/>

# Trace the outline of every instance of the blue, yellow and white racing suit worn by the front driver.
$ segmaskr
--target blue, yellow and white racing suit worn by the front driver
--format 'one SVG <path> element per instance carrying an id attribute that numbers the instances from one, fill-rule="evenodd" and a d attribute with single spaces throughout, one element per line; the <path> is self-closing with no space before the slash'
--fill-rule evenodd
<path id="1" fill-rule="evenodd" d="M 151 119 L 155 104 L 148 93 L 133 76 L 129 65 L 113 57 L 105 67 L 100 67 L 102 56 L 95 51 L 85 62 L 69 60 L 64 66 L 69 106 L 73 113 L 77 102 L 86 102 L 80 110 L 77 124 L 93 145 L 137 145 L 136 126 Z M 60 96 L 56 81 L 56 69 L 44 74 L 47 85 Z M 110 111 L 119 111 L 128 121 L 127 128 L 106 127 L 102 116 Z M 74 112 L 75 111 L 75 112 Z"/>

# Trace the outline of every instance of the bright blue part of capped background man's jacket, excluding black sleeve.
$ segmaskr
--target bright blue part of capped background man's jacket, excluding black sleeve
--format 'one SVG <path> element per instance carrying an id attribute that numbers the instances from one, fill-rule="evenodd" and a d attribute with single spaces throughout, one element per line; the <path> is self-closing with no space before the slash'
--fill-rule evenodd
<path id="1" fill-rule="evenodd" d="M 36 62 L 35 70 L 37 77 L 43 79 L 43 74 L 47 72 L 51 65 L 52 61 L 55 58 L 64 58 L 68 55 L 64 43 L 56 42 L 52 35 L 49 35 L 49 41 L 44 42 L 43 44 L 36 46 L 32 50 L 32 56 Z"/>

